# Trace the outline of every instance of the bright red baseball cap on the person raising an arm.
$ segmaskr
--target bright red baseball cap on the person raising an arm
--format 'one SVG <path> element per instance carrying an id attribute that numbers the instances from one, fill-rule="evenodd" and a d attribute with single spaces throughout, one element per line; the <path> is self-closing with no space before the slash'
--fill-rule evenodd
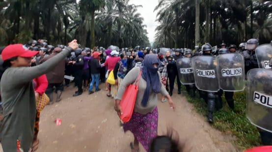
<path id="1" fill-rule="evenodd" d="M 5 47 L 2 51 L 3 61 L 10 59 L 12 57 L 21 56 L 21 57 L 32 57 L 38 54 L 39 51 L 30 51 L 23 44 L 11 44 Z"/>

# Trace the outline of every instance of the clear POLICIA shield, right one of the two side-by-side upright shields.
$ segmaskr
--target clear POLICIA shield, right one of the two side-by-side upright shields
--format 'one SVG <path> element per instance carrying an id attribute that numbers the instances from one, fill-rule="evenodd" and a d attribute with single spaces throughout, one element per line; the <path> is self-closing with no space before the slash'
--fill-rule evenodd
<path id="1" fill-rule="evenodd" d="M 243 91 L 245 89 L 245 61 L 240 53 L 218 55 L 217 71 L 220 89 Z"/>

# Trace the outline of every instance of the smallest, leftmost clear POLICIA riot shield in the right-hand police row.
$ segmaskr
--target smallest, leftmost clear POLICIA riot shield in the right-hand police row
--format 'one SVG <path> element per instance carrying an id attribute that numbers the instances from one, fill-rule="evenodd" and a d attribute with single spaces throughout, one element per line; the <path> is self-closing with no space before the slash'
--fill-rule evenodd
<path id="1" fill-rule="evenodd" d="M 176 60 L 179 79 L 183 85 L 194 84 L 191 60 L 192 58 L 179 58 L 178 60 Z"/>

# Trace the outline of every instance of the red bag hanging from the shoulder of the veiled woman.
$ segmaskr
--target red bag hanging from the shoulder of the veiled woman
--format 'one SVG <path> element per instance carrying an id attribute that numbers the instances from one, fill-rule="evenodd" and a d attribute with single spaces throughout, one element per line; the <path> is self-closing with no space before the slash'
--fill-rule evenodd
<path id="1" fill-rule="evenodd" d="M 122 108 L 122 115 L 121 115 L 121 120 L 124 123 L 127 123 L 130 121 L 133 111 L 134 111 L 134 106 L 137 98 L 137 93 L 138 93 L 138 87 L 140 83 L 140 77 L 141 77 L 142 71 L 140 71 L 138 77 L 136 78 L 135 82 L 133 84 L 130 84 L 127 88 L 126 91 L 122 97 L 122 100 L 120 101 L 120 105 Z"/>

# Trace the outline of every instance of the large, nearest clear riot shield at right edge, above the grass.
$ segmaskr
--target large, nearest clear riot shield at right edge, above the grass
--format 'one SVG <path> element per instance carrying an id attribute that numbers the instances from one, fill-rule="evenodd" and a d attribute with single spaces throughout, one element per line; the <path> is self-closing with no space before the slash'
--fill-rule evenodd
<path id="1" fill-rule="evenodd" d="M 272 132 L 272 70 L 248 71 L 246 88 L 247 119 L 252 125 Z"/>

